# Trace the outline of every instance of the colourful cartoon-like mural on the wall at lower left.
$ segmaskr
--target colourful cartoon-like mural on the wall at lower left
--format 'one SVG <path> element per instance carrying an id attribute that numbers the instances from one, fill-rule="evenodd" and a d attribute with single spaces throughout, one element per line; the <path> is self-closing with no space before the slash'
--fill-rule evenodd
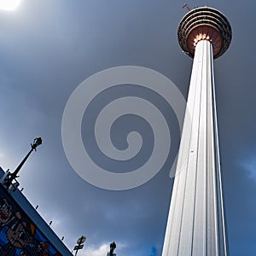
<path id="1" fill-rule="evenodd" d="M 61 256 L 1 184 L 0 255 Z"/>

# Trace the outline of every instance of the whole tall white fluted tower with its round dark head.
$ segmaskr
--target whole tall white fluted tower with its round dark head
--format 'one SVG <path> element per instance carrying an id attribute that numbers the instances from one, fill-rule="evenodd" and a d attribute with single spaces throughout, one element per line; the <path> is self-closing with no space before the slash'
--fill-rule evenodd
<path id="1" fill-rule="evenodd" d="M 213 58 L 230 46 L 231 27 L 201 7 L 184 15 L 177 36 L 194 61 L 162 256 L 228 255 Z"/>

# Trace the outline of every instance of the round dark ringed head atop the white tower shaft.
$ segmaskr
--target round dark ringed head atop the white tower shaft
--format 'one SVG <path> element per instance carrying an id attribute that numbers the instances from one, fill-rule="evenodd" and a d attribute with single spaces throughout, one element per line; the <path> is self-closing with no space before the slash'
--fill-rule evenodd
<path id="1" fill-rule="evenodd" d="M 229 48 L 232 31 L 229 20 L 217 9 L 200 7 L 184 15 L 178 26 L 177 38 L 183 51 L 192 58 L 196 44 L 209 40 L 216 59 Z"/>

